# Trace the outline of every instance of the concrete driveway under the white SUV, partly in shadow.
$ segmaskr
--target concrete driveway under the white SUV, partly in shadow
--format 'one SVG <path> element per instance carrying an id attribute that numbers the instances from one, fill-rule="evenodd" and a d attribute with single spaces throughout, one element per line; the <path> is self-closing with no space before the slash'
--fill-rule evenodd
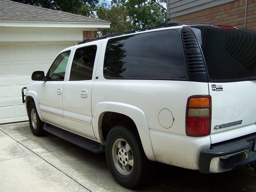
<path id="1" fill-rule="evenodd" d="M 50 133 L 36 137 L 28 122 L 1 124 L 0 130 L 1 192 L 256 191 L 252 168 L 202 174 L 159 163 L 147 185 L 131 190 L 113 179 L 105 154 L 92 153 Z"/>

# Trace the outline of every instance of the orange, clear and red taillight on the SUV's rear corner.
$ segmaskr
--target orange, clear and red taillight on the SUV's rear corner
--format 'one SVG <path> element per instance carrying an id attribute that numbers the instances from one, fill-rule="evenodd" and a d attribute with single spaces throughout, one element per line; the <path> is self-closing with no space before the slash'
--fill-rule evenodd
<path id="1" fill-rule="evenodd" d="M 186 134 L 204 136 L 211 133 L 211 96 L 199 95 L 188 98 Z"/>

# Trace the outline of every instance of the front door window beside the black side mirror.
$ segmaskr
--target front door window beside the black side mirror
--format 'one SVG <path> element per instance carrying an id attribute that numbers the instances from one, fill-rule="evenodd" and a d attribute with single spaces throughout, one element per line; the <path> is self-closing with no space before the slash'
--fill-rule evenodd
<path id="1" fill-rule="evenodd" d="M 48 72 L 48 80 L 63 81 L 71 51 L 61 53 L 52 63 Z"/>

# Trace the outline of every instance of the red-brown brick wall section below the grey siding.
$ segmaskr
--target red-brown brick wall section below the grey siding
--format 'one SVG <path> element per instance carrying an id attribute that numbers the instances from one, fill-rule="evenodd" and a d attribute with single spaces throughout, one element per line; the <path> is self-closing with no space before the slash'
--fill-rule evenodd
<path id="1" fill-rule="evenodd" d="M 174 17 L 169 21 L 193 21 L 256 30 L 256 0 L 247 0 L 246 26 L 244 27 L 245 4 L 246 0 L 236 0 Z"/>

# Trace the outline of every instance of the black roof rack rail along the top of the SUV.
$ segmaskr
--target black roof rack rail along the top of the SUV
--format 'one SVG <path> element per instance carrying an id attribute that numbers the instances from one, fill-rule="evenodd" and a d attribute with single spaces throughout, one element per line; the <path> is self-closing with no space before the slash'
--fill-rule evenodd
<path id="1" fill-rule="evenodd" d="M 162 23 L 159 23 L 159 24 L 157 24 L 155 26 L 151 26 L 151 27 L 132 29 L 130 31 L 124 31 L 124 32 L 120 32 L 120 33 L 115 33 L 115 34 L 103 36 L 103 37 L 87 38 L 87 39 L 79 42 L 78 44 L 84 44 L 86 42 L 91 42 L 91 41 L 100 40 L 100 39 L 106 39 L 108 37 L 114 37 L 114 36 L 119 36 L 119 35 L 136 33 L 138 31 L 145 31 L 145 30 L 148 30 L 148 29 L 154 29 L 154 28 L 160 28 L 160 27 L 180 26 L 181 23 L 200 24 L 200 25 L 213 25 L 213 24 L 208 24 L 208 23 L 198 23 L 198 22 L 191 22 L 191 21 L 164 21 Z M 215 25 L 213 25 L 213 26 L 215 26 Z"/>

